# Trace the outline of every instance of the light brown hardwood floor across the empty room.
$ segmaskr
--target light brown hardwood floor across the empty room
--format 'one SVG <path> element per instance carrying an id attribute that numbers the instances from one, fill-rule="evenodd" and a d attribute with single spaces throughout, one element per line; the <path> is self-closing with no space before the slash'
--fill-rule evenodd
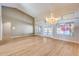
<path id="1" fill-rule="evenodd" d="M 0 55 L 76 56 L 79 55 L 79 44 L 40 36 L 22 37 L 0 45 Z"/>

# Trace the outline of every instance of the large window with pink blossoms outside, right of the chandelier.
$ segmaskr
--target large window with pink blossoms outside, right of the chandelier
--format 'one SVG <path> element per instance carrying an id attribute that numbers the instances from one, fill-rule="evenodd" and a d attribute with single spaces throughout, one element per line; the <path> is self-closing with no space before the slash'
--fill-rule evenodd
<path id="1" fill-rule="evenodd" d="M 71 23 L 59 24 L 57 26 L 57 34 L 72 35 L 72 31 L 73 31 L 73 24 Z"/>

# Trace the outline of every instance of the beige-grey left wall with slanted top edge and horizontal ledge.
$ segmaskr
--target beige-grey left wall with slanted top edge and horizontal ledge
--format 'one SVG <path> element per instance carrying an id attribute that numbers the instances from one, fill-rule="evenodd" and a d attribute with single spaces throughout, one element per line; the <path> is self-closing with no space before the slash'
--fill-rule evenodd
<path id="1" fill-rule="evenodd" d="M 3 37 L 19 37 L 33 34 L 34 18 L 15 8 L 2 7 Z M 9 26 L 5 26 L 6 23 Z"/>

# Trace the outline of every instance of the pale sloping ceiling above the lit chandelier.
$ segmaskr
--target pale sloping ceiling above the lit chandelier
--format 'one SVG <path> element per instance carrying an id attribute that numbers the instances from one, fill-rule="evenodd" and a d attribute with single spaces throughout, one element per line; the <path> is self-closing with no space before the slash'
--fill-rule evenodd
<path id="1" fill-rule="evenodd" d="M 54 17 L 79 10 L 78 3 L 23 3 L 21 6 L 33 17 L 45 17 L 53 13 Z"/>

